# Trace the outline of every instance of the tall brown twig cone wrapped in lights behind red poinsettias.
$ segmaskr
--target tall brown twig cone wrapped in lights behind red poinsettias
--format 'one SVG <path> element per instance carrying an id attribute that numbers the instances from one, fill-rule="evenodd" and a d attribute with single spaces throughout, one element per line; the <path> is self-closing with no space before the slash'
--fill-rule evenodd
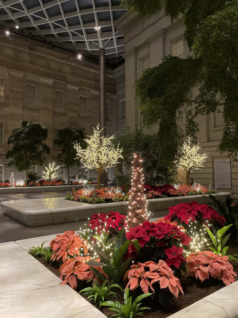
<path id="1" fill-rule="evenodd" d="M 149 220 L 150 213 L 147 212 L 146 195 L 143 192 L 144 175 L 142 173 L 142 162 L 140 154 L 136 152 L 132 161 L 131 190 L 126 218 L 127 231 L 131 227 L 136 227 Z"/>

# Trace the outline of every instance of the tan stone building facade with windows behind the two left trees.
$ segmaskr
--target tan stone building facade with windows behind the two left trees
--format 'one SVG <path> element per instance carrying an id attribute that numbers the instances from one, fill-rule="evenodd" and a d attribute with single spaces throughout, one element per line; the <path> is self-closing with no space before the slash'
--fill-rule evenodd
<path id="1" fill-rule="evenodd" d="M 106 133 L 123 129 L 121 100 L 124 66 L 106 67 Z M 116 84 L 117 83 L 117 84 Z M 53 141 L 58 130 L 65 127 L 84 128 L 87 134 L 99 122 L 99 66 L 97 61 L 78 58 L 73 52 L 52 50 L 49 45 L 20 36 L 0 35 L 0 182 L 24 180 L 24 172 L 4 167 L 9 149 L 7 138 L 22 120 L 40 122 L 48 128 L 46 143 L 52 149 L 47 162 L 59 164 Z M 124 120 L 125 121 L 125 120 Z M 34 166 L 31 172 L 42 174 L 43 167 Z M 70 169 L 69 174 L 96 176 L 83 167 Z M 110 168 L 109 177 L 114 178 Z M 67 179 L 67 170 L 60 168 L 59 176 Z"/>

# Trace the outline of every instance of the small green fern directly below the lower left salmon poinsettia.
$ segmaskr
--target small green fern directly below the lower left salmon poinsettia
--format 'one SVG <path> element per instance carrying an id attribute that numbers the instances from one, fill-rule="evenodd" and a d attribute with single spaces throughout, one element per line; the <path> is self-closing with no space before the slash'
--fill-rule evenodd
<path id="1" fill-rule="evenodd" d="M 117 287 L 120 288 L 122 291 L 122 287 L 118 284 L 110 284 L 108 285 L 108 281 L 104 280 L 102 283 L 102 286 L 98 283 L 98 281 L 94 282 L 94 285 L 92 287 L 86 287 L 82 289 L 80 293 L 83 293 L 84 295 L 88 296 L 86 299 L 94 300 L 95 304 L 99 304 L 99 307 L 101 307 L 101 304 L 103 301 L 107 301 L 109 298 L 116 297 L 116 293 L 111 291 L 111 288 Z"/>

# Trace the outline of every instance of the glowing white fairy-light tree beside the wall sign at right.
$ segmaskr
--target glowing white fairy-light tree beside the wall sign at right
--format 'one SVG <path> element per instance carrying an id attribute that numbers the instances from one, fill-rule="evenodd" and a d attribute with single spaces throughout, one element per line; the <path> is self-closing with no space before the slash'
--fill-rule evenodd
<path id="1" fill-rule="evenodd" d="M 182 156 L 175 161 L 177 168 L 184 169 L 187 174 L 187 186 L 190 186 L 191 170 L 200 170 L 203 168 L 203 162 L 208 158 L 208 152 L 201 152 L 200 142 L 192 143 L 190 136 L 181 147 Z"/>

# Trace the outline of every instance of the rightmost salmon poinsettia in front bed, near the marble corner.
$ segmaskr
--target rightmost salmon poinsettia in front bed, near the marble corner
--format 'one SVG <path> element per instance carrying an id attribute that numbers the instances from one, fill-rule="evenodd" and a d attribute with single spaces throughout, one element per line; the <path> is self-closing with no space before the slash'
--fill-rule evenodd
<path id="1" fill-rule="evenodd" d="M 192 253 L 187 257 L 188 275 L 199 278 L 201 282 L 213 278 L 222 280 L 225 285 L 235 281 L 237 276 L 233 266 L 228 262 L 228 256 L 219 256 L 210 251 Z"/>

